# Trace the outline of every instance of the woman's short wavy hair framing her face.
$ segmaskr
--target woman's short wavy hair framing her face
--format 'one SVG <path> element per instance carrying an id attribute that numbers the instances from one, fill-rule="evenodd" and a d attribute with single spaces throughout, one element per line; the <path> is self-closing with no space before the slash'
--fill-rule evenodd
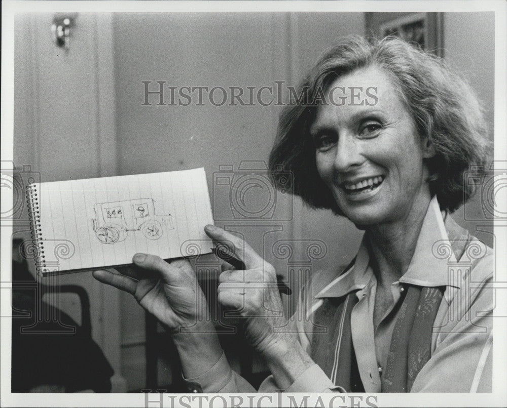
<path id="1" fill-rule="evenodd" d="M 317 92 L 326 91 L 340 76 L 369 66 L 383 68 L 394 78 L 418 134 L 427 136 L 436 151 L 426 161 L 431 194 L 437 194 L 442 210 L 455 211 L 475 191 L 473 185 L 463 182 L 463 173 L 472 164 L 484 164 L 491 147 L 477 96 L 442 58 L 400 38 L 361 36 L 344 37 L 325 51 L 297 87 L 298 95 L 306 90 L 306 100 L 316 100 Z M 289 191 L 301 196 L 310 207 L 343 215 L 317 172 L 309 129 L 318 106 L 300 101 L 286 106 L 280 114 L 270 168 L 275 171 L 283 166 L 292 172 Z M 287 189 L 286 180 L 283 182 L 279 183 L 275 175 L 275 184 Z"/>

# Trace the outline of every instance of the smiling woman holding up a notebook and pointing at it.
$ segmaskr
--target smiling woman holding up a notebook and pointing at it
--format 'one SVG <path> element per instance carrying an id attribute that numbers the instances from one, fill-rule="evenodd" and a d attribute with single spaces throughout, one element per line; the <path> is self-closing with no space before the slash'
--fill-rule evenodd
<path id="1" fill-rule="evenodd" d="M 344 38 L 301 92 L 307 103 L 281 115 L 272 168 L 284 165 L 293 193 L 365 235 L 334 280 L 317 274 L 304 288 L 308 318 L 288 321 L 269 285 L 273 267 L 239 238 L 206 227 L 246 266 L 225 268 L 218 299 L 241 309 L 269 366 L 260 391 L 491 389 L 492 251 L 449 216 L 473 194 L 464 171 L 486 156 L 477 99 L 441 60 L 396 38 Z M 456 261 L 462 274 L 448 267 Z M 196 319 L 203 295 L 190 264 L 146 254 L 133 262 L 138 269 L 126 276 L 94 276 L 133 294 L 173 334 L 189 388 L 251 391 L 211 323 Z"/>

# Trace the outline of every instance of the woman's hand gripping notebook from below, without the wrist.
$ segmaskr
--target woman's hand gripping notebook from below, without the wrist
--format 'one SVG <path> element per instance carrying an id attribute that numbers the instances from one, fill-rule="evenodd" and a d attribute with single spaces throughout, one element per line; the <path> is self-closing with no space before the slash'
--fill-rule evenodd
<path id="1" fill-rule="evenodd" d="M 198 321 L 209 321 L 203 318 L 207 304 L 189 261 L 167 263 L 147 254 L 136 254 L 132 261 L 134 267 L 119 268 L 120 274 L 97 270 L 93 276 L 133 295 L 173 334 L 194 327 Z M 214 331 L 212 326 L 209 329 Z"/>

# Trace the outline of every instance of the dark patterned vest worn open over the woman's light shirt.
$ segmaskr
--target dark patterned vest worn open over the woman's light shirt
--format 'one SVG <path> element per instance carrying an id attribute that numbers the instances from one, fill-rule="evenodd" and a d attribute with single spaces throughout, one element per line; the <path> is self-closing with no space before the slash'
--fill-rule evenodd
<path id="1" fill-rule="evenodd" d="M 445 226 L 454 255 L 459 260 L 471 236 L 449 215 L 445 217 Z M 380 378 L 381 392 L 409 392 L 412 388 L 415 378 L 431 357 L 433 324 L 445 289 L 446 287 L 406 285 L 406 295 L 394 326 L 387 364 Z M 364 346 L 375 348 L 375 345 L 373 331 L 371 336 L 356 336 L 354 342 L 352 341 L 351 318 L 356 303 L 354 292 L 339 298 L 323 299 L 313 321 L 328 330 L 325 333 L 313 333 L 311 357 L 336 385 L 347 391 L 364 392 L 365 388 L 375 386 L 378 373 L 370 373 L 373 385 L 367 378 L 361 381 L 356 358 L 362 358 L 364 353 L 356 350 L 357 356 L 353 343 L 360 346 L 364 341 L 370 340 L 363 337 L 371 337 L 372 344 Z M 357 330 L 354 329 L 355 332 Z M 368 361 L 361 362 L 361 366 L 369 365 Z M 367 376 L 368 373 L 363 375 Z M 365 381 L 367 387 L 364 386 Z"/>

